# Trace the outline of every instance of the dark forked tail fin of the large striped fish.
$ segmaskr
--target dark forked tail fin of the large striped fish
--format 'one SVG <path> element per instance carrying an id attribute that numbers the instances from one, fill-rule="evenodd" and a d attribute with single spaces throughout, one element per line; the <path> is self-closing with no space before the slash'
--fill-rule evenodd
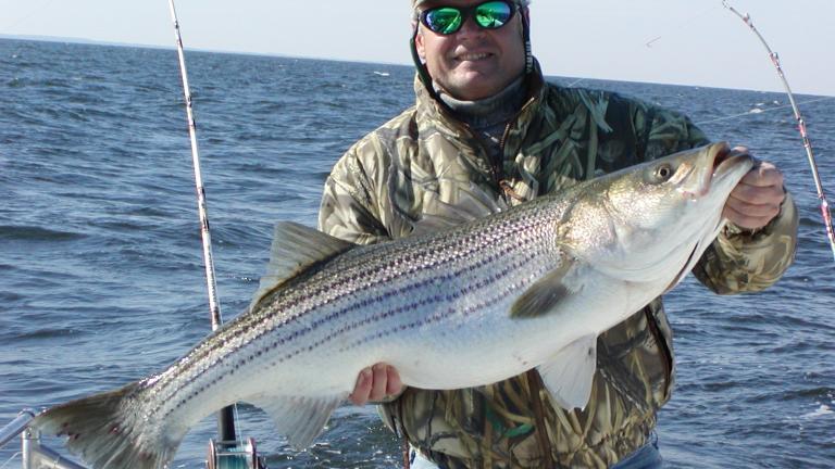
<path id="1" fill-rule="evenodd" d="M 160 429 L 144 424 L 137 416 L 138 392 L 135 382 L 72 401 L 40 414 L 33 426 L 66 436 L 66 447 L 96 469 L 159 469 L 174 456 L 183 435 L 162 438 Z"/>

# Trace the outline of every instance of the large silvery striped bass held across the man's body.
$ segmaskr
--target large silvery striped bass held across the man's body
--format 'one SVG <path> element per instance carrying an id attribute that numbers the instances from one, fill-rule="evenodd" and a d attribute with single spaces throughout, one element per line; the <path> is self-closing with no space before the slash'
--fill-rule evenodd
<path id="1" fill-rule="evenodd" d="M 303 448 L 381 362 L 425 389 L 536 367 L 554 405 L 584 407 L 598 334 L 693 268 L 752 164 L 711 144 L 367 246 L 282 223 L 248 312 L 160 373 L 52 407 L 35 426 L 95 468 L 151 469 L 198 421 L 248 402 Z"/>

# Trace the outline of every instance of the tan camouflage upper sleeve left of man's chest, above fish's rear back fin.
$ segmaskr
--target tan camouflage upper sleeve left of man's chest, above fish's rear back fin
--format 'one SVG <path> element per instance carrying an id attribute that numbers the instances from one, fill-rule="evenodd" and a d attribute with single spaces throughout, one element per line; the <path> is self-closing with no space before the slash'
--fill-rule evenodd
<path id="1" fill-rule="evenodd" d="M 358 244 L 390 239 L 377 213 L 370 168 L 360 157 L 369 144 L 366 137 L 339 159 L 325 181 L 319 210 L 321 231 Z"/>

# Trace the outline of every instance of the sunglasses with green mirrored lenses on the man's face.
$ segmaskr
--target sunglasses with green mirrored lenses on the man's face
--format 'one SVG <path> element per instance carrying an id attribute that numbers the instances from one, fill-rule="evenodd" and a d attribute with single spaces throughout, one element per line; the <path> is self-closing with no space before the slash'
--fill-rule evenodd
<path id="1" fill-rule="evenodd" d="M 435 7 L 421 12 L 421 23 L 439 35 L 458 33 L 464 20 L 472 17 L 482 29 L 498 29 L 516 12 L 510 1 L 486 1 L 474 7 Z"/>

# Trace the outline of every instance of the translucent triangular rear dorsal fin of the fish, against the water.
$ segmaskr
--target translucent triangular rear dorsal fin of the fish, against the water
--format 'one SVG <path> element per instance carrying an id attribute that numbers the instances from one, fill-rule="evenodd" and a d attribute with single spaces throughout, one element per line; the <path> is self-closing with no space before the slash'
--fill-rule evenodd
<path id="1" fill-rule="evenodd" d="M 327 261 L 357 244 L 292 221 L 275 225 L 266 274 L 261 277 L 250 309 L 264 296 L 311 265 Z"/>

